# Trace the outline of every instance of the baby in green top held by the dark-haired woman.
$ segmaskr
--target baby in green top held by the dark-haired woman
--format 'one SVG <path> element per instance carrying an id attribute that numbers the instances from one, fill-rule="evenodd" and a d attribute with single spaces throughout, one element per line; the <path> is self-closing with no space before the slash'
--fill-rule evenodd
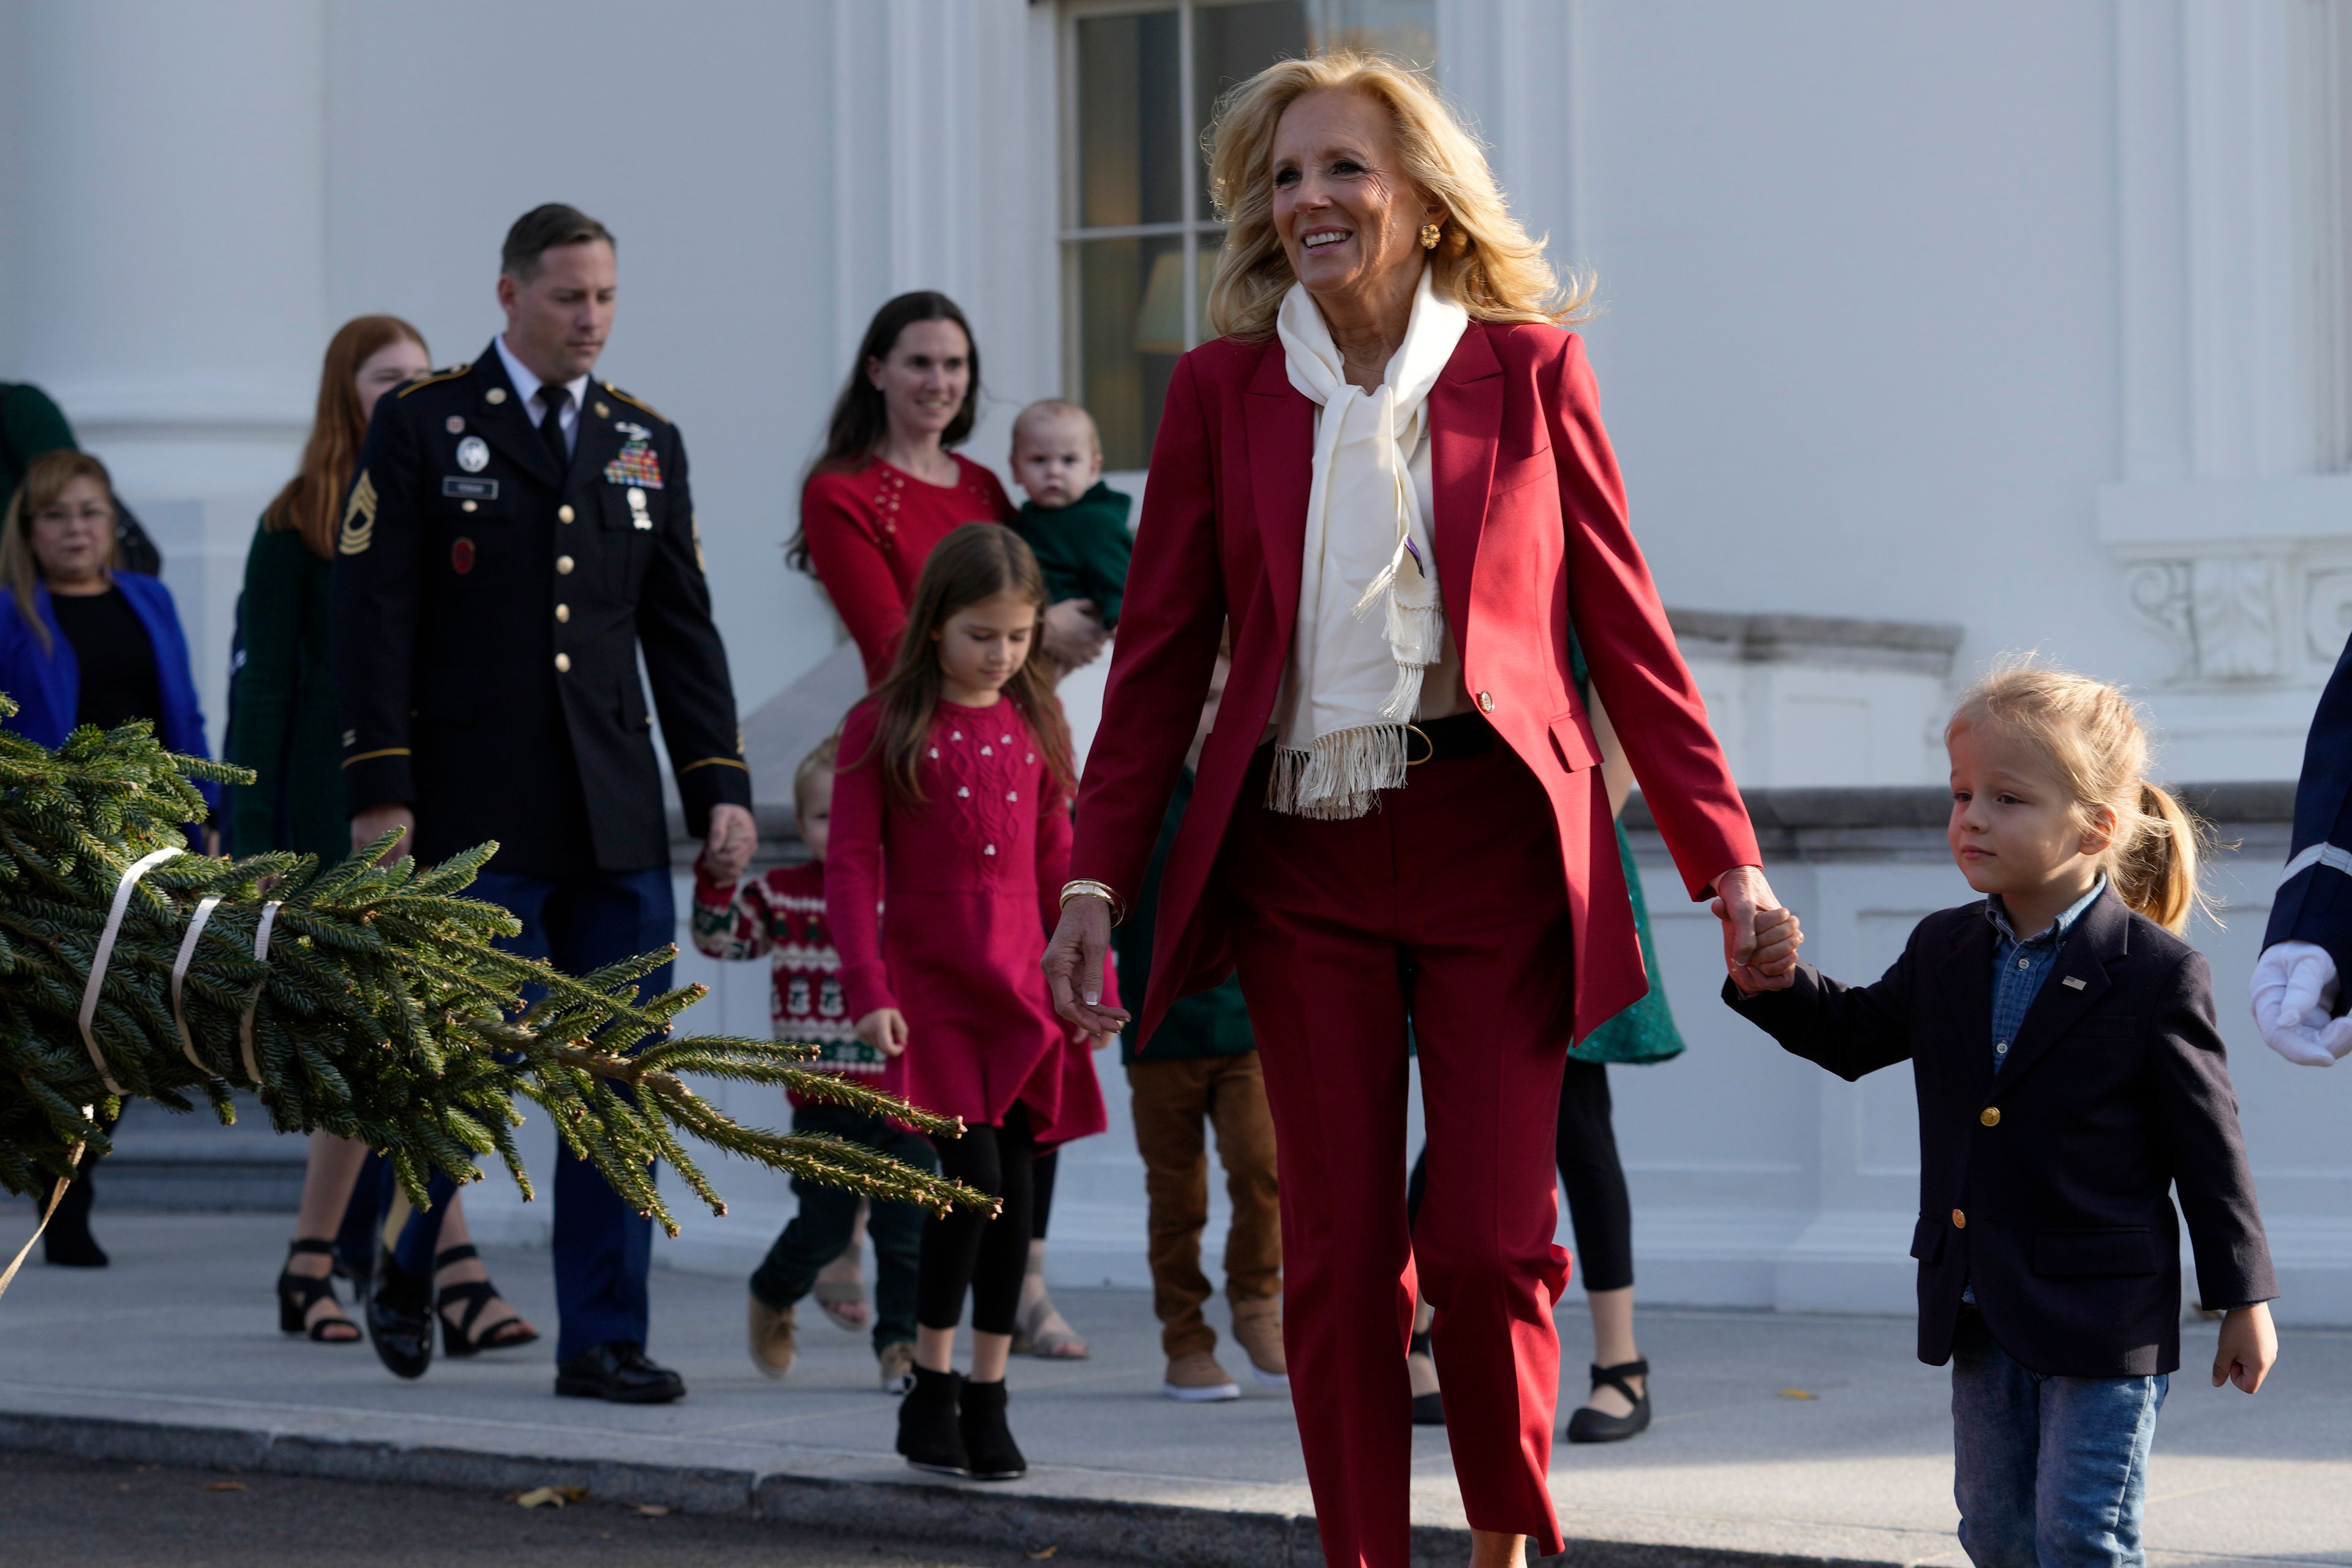
<path id="1" fill-rule="evenodd" d="M 1028 501 L 1014 531 L 1037 555 L 1047 602 L 1084 599 L 1105 630 L 1127 592 L 1127 496 L 1103 484 L 1103 437 L 1075 402 L 1047 400 L 1014 421 L 1014 482 Z"/>

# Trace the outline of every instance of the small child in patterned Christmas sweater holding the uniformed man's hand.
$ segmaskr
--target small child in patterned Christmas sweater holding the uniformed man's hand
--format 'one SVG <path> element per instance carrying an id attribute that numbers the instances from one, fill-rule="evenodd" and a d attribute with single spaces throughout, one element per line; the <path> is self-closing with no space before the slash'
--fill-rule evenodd
<path id="1" fill-rule="evenodd" d="M 776 1039 L 823 1046 L 809 1063 L 821 1072 L 847 1072 L 875 1088 L 898 1088 L 896 1063 L 858 1041 L 856 1020 L 842 999 L 842 954 L 826 933 L 826 832 L 833 825 L 833 766 L 837 738 L 826 738 L 793 771 L 793 809 L 807 865 L 779 865 L 743 886 L 713 882 L 694 867 L 694 947 L 713 959 L 769 959 L 776 992 L 769 1004 Z M 936 1171 L 931 1143 L 887 1117 L 861 1117 L 840 1105 L 793 1095 L 795 1133 L 830 1133 L 894 1154 L 910 1166 Z M 797 1354 L 793 1307 L 816 1284 L 818 1269 L 842 1255 L 858 1218 L 858 1197 L 793 1178 L 800 1213 L 767 1260 L 750 1276 L 750 1359 L 769 1378 L 793 1371 Z M 922 1251 L 922 1208 L 873 1204 L 868 1229 L 875 1239 L 875 1359 L 882 1392 L 906 1389 L 915 1368 L 915 1258 Z"/>

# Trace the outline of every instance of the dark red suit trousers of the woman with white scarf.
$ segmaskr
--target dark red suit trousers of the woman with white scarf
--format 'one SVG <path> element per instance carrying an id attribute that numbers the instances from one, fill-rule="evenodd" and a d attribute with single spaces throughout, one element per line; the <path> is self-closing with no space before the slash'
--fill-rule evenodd
<path id="1" fill-rule="evenodd" d="M 1501 741 L 1416 766 L 1345 823 L 1265 811 L 1265 766 L 1261 752 L 1221 882 L 1275 1112 L 1282 1328 L 1324 1561 L 1406 1563 L 1416 1265 L 1470 1526 L 1555 1554 L 1571 938 L 1550 802 Z M 1406 1023 L 1428 1124 L 1411 1232 Z"/>

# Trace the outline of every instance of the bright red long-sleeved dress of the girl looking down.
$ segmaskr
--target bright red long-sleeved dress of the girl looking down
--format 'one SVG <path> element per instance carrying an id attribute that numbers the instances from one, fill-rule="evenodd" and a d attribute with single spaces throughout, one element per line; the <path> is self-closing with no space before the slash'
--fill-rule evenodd
<path id="1" fill-rule="evenodd" d="M 908 806 L 868 757 L 877 719 L 858 703 L 842 724 L 826 851 L 849 1016 L 906 1013 L 906 1098 L 924 1110 L 1002 1126 L 1021 1105 L 1042 1145 L 1101 1133 L 1094 1051 L 1037 969 L 1070 865 L 1070 797 L 1044 748 L 1011 701 L 941 703 Z"/>

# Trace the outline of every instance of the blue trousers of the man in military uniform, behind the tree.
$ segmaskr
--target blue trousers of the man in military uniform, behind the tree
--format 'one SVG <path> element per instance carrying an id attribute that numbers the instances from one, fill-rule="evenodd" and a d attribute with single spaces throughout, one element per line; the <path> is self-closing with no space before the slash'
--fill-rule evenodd
<path id="1" fill-rule="evenodd" d="M 522 936 L 501 940 L 510 952 L 548 959 L 569 976 L 586 976 L 677 938 L 670 867 L 644 872 L 581 872 L 517 877 L 482 872 L 470 898 L 506 905 Z M 637 983 L 640 994 L 666 992 L 673 966 Z M 383 1168 L 383 1215 L 395 1211 L 400 1182 Z M 456 1182 L 433 1173 L 433 1208 L 409 1215 L 393 1232 L 393 1258 L 409 1274 L 433 1272 L 440 1215 Z M 379 1220 L 381 1222 L 381 1220 Z M 386 1225 L 386 1229 L 390 1229 Z M 649 1307 L 644 1276 L 654 1262 L 654 1222 L 630 1208 L 597 1168 L 555 1145 L 555 1359 L 569 1361 L 607 1340 L 644 1345 Z"/>

